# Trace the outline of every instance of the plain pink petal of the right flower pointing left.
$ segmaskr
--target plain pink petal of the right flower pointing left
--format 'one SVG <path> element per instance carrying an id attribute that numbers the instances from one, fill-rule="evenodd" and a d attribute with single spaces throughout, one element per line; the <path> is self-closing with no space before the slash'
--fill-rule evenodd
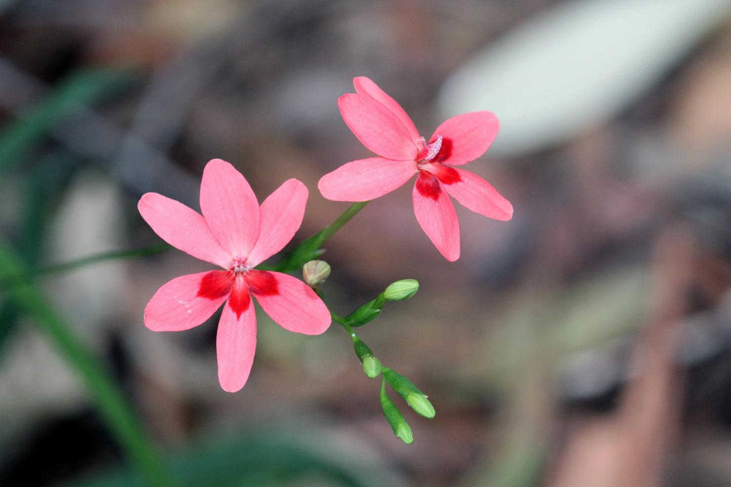
<path id="1" fill-rule="evenodd" d="M 348 162 L 320 178 L 322 196 L 335 201 L 368 201 L 392 192 L 416 173 L 416 162 L 371 157 Z"/>

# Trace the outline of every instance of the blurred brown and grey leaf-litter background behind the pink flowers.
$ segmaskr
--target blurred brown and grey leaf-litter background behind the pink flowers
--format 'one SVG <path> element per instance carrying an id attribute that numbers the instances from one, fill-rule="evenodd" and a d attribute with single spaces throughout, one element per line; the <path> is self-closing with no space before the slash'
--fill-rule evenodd
<path id="1" fill-rule="evenodd" d="M 0 1 L 0 485 L 143 485 L 15 268 L 113 374 L 183 485 L 731 485 L 731 1 Z M 219 314 L 154 333 L 183 252 L 49 265 L 162 241 L 154 191 L 198 209 L 221 158 L 263 200 L 310 190 L 295 241 L 348 207 L 317 181 L 371 156 L 336 100 L 368 76 L 428 137 L 492 110 L 466 166 L 510 222 L 457 207 L 462 255 L 420 230 L 406 184 L 327 243 L 338 314 L 420 281 L 360 329 L 436 418 L 392 399 L 349 337 L 259 316 L 239 393 Z M 20 266 L 20 267 L 18 267 Z M 9 271 L 11 269 L 11 271 Z M 56 269 L 58 270 L 58 269 Z M 27 279 L 26 279 L 27 280 Z M 22 282 L 21 282 L 22 281 Z M 40 320 L 42 321 L 42 320 Z M 398 399 L 398 401 L 396 401 Z"/>

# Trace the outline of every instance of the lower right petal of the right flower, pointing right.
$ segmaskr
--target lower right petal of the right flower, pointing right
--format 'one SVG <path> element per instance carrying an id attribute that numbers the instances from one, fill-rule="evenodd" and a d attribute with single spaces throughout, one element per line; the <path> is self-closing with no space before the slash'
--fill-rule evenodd
<path id="1" fill-rule="evenodd" d="M 461 181 L 443 184 L 442 187 L 465 208 L 488 218 L 507 221 L 512 218 L 512 205 L 497 189 L 480 176 L 452 167 L 460 175 Z"/>

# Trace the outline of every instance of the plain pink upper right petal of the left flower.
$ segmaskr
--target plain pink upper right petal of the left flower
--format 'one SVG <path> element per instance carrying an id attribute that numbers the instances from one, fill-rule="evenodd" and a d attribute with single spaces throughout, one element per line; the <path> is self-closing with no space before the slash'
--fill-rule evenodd
<path id="1" fill-rule="evenodd" d="M 307 186 L 292 178 L 264 200 L 260 208 L 259 238 L 246 258 L 246 265 L 259 265 L 292 240 L 302 224 L 307 196 Z"/>

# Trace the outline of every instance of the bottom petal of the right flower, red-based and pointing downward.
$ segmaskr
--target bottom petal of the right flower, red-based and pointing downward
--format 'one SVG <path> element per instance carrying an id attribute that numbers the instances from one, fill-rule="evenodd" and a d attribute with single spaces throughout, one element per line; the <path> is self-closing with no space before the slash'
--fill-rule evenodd
<path id="1" fill-rule="evenodd" d="M 439 180 L 420 171 L 412 192 L 414 214 L 439 252 L 453 262 L 459 258 L 459 221 L 455 207 Z"/>

